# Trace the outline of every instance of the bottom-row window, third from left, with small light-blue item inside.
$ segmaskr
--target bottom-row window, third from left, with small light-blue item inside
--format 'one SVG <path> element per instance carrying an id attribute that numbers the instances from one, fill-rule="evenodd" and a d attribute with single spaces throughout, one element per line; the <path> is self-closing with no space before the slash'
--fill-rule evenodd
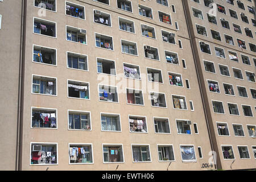
<path id="1" fill-rule="evenodd" d="M 123 163 L 122 144 L 103 144 L 104 163 Z"/>

